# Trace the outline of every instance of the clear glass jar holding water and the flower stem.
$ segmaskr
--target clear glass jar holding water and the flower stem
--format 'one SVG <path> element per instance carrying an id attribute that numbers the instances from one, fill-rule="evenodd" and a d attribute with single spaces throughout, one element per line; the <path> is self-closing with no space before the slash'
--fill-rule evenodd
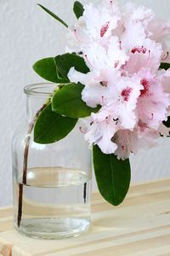
<path id="1" fill-rule="evenodd" d="M 57 143 L 33 141 L 35 116 L 55 88 L 25 87 L 27 118 L 12 143 L 14 227 L 44 239 L 79 236 L 90 227 L 91 152 L 78 125 Z"/>

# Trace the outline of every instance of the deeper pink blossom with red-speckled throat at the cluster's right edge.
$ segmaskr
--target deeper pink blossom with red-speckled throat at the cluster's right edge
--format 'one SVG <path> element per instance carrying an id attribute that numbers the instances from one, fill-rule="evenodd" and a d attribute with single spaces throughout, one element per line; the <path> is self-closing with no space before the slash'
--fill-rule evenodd
<path id="1" fill-rule="evenodd" d="M 141 70 L 138 76 L 144 86 L 137 104 L 139 119 L 150 128 L 158 129 L 162 120 L 167 119 L 169 96 L 164 92 L 160 79 L 154 77 L 149 69 Z"/>

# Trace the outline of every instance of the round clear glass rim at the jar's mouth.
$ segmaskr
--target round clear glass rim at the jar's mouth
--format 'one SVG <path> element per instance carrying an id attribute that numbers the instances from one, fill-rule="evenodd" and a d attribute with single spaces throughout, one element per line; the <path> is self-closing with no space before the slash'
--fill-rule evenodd
<path id="1" fill-rule="evenodd" d="M 24 87 L 24 92 L 27 96 L 49 96 L 54 92 L 58 84 L 54 83 L 37 83 L 37 84 L 27 84 Z"/>

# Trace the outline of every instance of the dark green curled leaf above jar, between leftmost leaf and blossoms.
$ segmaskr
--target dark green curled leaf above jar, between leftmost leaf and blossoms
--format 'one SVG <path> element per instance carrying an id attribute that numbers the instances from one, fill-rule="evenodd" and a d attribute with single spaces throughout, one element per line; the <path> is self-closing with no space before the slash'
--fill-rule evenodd
<path id="1" fill-rule="evenodd" d="M 75 54 L 58 55 L 54 58 L 54 61 L 59 73 L 68 81 L 67 74 L 71 67 L 75 67 L 81 73 L 88 73 L 90 71 L 84 59 Z"/>

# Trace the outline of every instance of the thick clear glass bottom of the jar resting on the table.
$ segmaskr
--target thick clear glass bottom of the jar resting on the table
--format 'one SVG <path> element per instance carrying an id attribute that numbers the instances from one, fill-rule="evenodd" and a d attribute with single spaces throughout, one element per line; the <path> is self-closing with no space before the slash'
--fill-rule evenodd
<path id="1" fill-rule="evenodd" d="M 82 235 L 90 228 L 86 218 L 31 218 L 21 221 L 20 228 L 14 223 L 21 235 L 31 238 L 57 240 Z"/>

